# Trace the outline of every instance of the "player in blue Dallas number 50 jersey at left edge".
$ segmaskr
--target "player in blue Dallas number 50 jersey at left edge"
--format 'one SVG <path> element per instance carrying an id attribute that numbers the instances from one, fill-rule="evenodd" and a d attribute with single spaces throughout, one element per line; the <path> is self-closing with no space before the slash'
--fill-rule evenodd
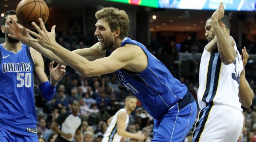
<path id="1" fill-rule="evenodd" d="M 34 75 L 42 95 L 51 100 L 56 84 L 65 74 L 65 66 L 50 64 L 50 82 L 44 73 L 44 61 L 40 53 L 9 36 L 6 21 L 15 11 L 7 11 L 1 31 L 6 42 L 0 44 L 0 142 L 38 142 L 34 101 Z M 18 24 L 20 28 L 22 26 Z"/>

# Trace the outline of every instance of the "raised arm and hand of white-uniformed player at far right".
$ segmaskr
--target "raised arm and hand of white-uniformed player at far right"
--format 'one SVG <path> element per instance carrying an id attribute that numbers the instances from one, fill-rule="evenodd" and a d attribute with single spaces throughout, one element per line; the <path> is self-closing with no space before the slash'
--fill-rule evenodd
<path id="1" fill-rule="evenodd" d="M 229 33 L 223 31 L 224 23 L 218 22 L 224 17 L 224 6 L 220 3 L 219 8 L 212 14 L 212 27 L 215 31 L 217 40 L 218 53 L 220 54 L 221 61 L 224 64 L 231 64 L 236 58 L 236 51 L 233 48 L 234 42 L 230 39 Z"/>

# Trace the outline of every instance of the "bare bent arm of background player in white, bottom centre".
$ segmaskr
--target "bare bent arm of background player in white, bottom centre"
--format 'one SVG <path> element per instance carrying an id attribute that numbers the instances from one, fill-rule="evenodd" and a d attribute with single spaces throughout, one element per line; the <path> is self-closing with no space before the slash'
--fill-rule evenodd
<path id="1" fill-rule="evenodd" d="M 126 115 L 127 114 L 124 111 L 119 112 L 119 114 L 117 115 L 117 133 L 123 137 L 144 140 L 145 135 L 142 133 L 133 134 L 125 131 L 125 121 L 127 119 Z"/>

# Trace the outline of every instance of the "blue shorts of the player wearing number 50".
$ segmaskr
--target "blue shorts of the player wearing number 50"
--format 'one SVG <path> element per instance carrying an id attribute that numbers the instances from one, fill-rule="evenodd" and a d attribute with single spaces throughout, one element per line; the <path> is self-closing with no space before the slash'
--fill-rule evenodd
<path id="1" fill-rule="evenodd" d="M 38 142 L 38 137 L 20 135 L 0 128 L 0 142 Z"/>

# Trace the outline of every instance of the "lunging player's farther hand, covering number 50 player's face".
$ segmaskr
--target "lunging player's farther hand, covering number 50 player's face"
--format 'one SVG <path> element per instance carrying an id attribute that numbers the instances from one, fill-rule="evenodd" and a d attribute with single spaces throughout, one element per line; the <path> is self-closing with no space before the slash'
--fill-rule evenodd
<path id="1" fill-rule="evenodd" d="M 19 26 L 12 17 L 9 18 L 12 21 L 12 24 L 9 21 L 6 21 L 6 28 L 9 31 L 8 36 L 20 40 L 20 42 L 23 42 L 26 45 L 29 45 L 29 41 L 27 40 L 27 38 L 31 38 L 31 36 L 27 32 L 27 28 L 23 28 L 21 25 Z"/>

